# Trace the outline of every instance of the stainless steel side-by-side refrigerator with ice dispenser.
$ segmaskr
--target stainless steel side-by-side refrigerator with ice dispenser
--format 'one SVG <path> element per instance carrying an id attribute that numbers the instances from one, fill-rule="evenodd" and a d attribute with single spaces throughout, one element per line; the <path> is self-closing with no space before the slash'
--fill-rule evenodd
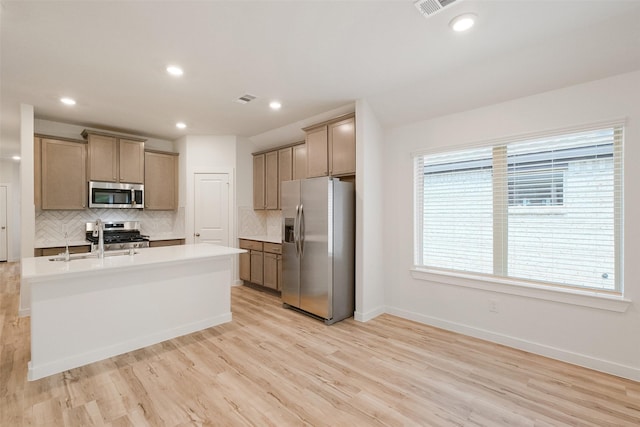
<path id="1" fill-rule="evenodd" d="M 355 191 L 336 178 L 285 181 L 282 302 L 332 324 L 353 316 Z"/>

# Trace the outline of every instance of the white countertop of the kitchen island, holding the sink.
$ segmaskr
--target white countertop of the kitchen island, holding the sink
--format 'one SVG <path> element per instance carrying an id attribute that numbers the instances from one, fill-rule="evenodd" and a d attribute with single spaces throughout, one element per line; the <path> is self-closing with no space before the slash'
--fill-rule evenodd
<path id="1" fill-rule="evenodd" d="M 69 262 L 49 261 L 52 257 L 22 258 L 22 278 L 31 281 L 47 279 L 59 275 L 91 275 L 110 269 L 137 269 L 153 264 L 179 263 L 189 260 L 214 258 L 246 252 L 244 249 L 230 248 L 209 243 L 195 245 L 140 248 L 136 254 L 106 256 L 103 259 L 73 259 Z"/>

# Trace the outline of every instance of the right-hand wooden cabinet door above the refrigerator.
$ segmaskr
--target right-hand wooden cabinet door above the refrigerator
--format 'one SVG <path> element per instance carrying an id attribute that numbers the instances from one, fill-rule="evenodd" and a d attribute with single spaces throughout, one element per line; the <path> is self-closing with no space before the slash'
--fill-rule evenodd
<path id="1" fill-rule="evenodd" d="M 355 119 L 349 118 L 328 125 L 329 174 L 332 176 L 356 173 Z"/>

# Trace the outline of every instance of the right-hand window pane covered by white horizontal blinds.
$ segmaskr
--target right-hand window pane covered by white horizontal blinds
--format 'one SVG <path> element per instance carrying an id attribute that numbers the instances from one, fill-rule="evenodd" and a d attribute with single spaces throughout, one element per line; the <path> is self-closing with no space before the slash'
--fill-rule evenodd
<path id="1" fill-rule="evenodd" d="M 507 152 L 508 275 L 614 290 L 612 130 L 513 144 Z M 532 169 L 527 156 L 544 169 Z"/>

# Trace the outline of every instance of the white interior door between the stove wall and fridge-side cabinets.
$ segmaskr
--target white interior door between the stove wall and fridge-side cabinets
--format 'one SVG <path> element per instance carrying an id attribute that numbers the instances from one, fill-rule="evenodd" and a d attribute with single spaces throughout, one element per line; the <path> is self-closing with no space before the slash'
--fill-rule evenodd
<path id="1" fill-rule="evenodd" d="M 194 242 L 229 246 L 229 174 L 196 173 Z"/>

